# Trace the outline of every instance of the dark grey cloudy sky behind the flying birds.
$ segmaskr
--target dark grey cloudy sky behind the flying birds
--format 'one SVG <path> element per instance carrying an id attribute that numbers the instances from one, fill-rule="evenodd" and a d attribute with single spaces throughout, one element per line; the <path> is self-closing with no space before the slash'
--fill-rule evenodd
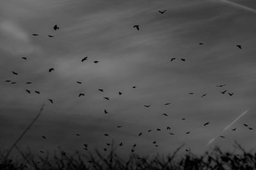
<path id="1" fill-rule="evenodd" d="M 255 148 L 255 1 L 3 0 L 0 13 L 2 148 L 12 146 L 43 103 L 18 143 L 23 150 L 86 152 L 86 143 L 103 152 L 112 141 L 124 144 L 120 155 L 134 143 L 142 155 L 170 153 L 182 143 L 181 152 L 193 153 L 234 150 L 234 141 Z M 246 110 L 225 138 L 206 146 Z"/>

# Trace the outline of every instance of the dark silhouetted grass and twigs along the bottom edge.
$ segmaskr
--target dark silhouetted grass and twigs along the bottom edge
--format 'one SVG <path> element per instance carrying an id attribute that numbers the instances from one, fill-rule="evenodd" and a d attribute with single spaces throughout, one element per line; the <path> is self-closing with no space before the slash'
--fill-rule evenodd
<path id="1" fill-rule="evenodd" d="M 140 157 L 136 153 L 131 153 L 127 160 L 118 157 L 113 147 L 106 156 L 100 153 L 99 150 L 95 150 L 95 154 L 75 152 L 72 155 L 60 150 L 60 153 L 54 153 L 51 159 L 49 153 L 42 157 L 33 155 L 30 150 L 27 152 L 20 151 L 22 157 L 17 160 L 5 160 L 4 151 L 0 150 L 0 169 L 250 170 L 256 167 L 256 153 L 252 153 L 252 151 L 246 152 L 238 143 L 235 143 L 234 146 L 240 150 L 240 155 L 222 152 L 220 148 L 216 147 L 203 155 L 186 152 L 186 154 L 178 156 L 177 153 L 182 146 L 172 154 L 165 156 Z"/>

